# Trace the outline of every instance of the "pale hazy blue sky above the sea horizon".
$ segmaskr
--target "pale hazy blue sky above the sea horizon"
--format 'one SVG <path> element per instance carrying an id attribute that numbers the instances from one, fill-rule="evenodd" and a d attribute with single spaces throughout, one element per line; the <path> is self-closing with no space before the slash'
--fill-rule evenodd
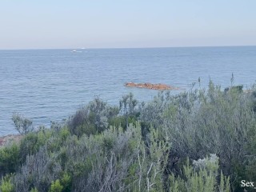
<path id="1" fill-rule="evenodd" d="M 0 49 L 256 45 L 256 0 L 1 0 Z"/>

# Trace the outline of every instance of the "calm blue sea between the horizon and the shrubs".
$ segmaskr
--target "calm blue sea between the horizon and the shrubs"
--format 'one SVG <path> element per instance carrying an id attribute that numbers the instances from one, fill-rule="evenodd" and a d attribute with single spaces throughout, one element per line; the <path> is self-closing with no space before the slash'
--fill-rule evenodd
<path id="1" fill-rule="evenodd" d="M 81 52 L 80 52 L 81 51 Z M 0 50 L 0 135 L 15 134 L 19 112 L 34 126 L 68 118 L 95 96 L 117 104 L 123 94 L 148 101 L 157 90 L 125 82 L 165 83 L 188 89 L 201 78 L 222 87 L 251 86 L 256 79 L 256 46 L 106 50 Z M 175 93 L 175 92 L 174 92 Z"/>

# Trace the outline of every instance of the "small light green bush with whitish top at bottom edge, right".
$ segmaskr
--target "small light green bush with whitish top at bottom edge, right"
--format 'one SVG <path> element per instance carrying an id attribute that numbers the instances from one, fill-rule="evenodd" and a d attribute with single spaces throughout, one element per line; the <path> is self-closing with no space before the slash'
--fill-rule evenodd
<path id="1" fill-rule="evenodd" d="M 218 157 L 216 154 L 210 154 L 206 157 L 193 162 L 194 167 L 190 166 L 187 159 L 186 166 L 183 167 L 183 178 L 175 178 L 170 175 L 170 191 L 189 191 L 189 192 L 229 192 L 230 178 L 223 176 L 221 172 L 221 181 L 218 183 Z"/>

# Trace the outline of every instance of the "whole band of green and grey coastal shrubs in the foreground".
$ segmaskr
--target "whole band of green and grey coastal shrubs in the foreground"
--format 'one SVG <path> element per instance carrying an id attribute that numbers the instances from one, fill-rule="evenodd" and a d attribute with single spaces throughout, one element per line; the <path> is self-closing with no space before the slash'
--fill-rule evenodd
<path id="1" fill-rule="evenodd" d="M 0 148 L 0 191 L 253 191 L 256 89 L 159 92 L 151 102 L 100 98 L 64 123 L 32 129 Z"/>

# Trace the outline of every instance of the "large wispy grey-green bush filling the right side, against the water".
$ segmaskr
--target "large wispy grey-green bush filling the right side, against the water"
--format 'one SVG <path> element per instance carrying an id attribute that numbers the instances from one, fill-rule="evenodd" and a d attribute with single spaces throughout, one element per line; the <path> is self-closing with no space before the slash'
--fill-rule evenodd
<path id="1" fill-rule="evenodd" d="M 230 175 L 233 190 L 239 188 L 242 178 L 256 179 L 252 172 L 244 174 L 252 170 L 255 159 L 252 145 L 256 119 L 250 94 L 232 87 L 223 92 L 210 82 L 207 91 L 190 90 L 174 96 L 162 93 L 144 107 L 145 111 L 154 111 L 153 104 L 158 118 L 151 123 L 166 133 L 172 143 L 170 172 L 178 172 L 179 163 L 186 157 L 195 160 L 217 154 L 223 174 Z M 142 116 L 142 121 L 150 119 Z"/>

